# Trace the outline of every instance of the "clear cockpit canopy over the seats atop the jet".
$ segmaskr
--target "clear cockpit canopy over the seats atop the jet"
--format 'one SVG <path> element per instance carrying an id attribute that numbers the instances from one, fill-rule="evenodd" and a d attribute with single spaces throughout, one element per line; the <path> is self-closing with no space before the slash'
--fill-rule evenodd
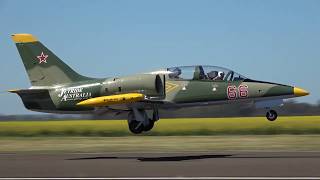
<path id="1" fill-rule="evenodd" d="M 217 66 L 179 66 L 167 68 L 168 77 L 176 80 L 241 81 L 247 79 L 232 70 Z"/>

